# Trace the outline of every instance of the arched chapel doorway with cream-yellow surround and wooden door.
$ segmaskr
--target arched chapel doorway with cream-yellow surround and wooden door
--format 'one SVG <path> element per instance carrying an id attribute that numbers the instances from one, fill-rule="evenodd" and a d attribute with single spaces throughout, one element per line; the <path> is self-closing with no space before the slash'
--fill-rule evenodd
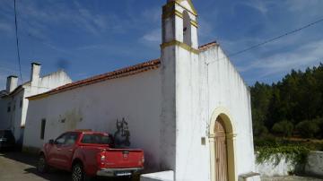
<path id="1" fill-rule="evenodd" d="M 236 181 L 235 129 L 227 109 L 217 108 L 210 125 L 211 180 Z"/>

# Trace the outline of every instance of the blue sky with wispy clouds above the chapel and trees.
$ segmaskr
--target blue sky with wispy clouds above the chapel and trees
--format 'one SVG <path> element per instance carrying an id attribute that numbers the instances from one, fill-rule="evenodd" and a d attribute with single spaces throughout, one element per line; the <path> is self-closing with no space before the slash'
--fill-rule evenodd
<path id="1" fill-rule="evenodd" d="M 31 62 L 42 74 L 65 69 L 74 81 L 160 57 L 166 0 L 17 0 L 23 81 Z M 323 18 L 321 0 L 193 0 L 200 45 L 227 54 Z M 276 82 L 291 69 L 323 63 L 323 22 L 231 57 L 249 85 Z M 19 75 L 13 0 L 0 1 L 0 89 Z"/>

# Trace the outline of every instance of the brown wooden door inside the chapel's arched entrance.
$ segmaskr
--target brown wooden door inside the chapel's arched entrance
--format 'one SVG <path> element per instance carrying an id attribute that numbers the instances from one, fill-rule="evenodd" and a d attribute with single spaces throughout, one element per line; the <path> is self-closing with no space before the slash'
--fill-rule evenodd
<path id="1" fill-rule="evenodd" d="M 221 117 L 218 117 L 215 122 L 215 180 L 228 180 L 227 143 Z"/>

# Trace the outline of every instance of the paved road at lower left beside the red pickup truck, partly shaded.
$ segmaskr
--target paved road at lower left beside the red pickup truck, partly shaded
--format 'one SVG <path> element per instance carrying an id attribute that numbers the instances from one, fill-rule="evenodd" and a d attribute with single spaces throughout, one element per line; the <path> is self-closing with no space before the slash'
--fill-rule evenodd
<path id="1" fill-rule="evenodd" d="M 70 181 L 71 175 L 60 170 L 39 174 L 37 158 L 21 152 L 0 152 L 0 181 Z M 123 181 L 122 179 L 97 178 L 100 181 Z"/>

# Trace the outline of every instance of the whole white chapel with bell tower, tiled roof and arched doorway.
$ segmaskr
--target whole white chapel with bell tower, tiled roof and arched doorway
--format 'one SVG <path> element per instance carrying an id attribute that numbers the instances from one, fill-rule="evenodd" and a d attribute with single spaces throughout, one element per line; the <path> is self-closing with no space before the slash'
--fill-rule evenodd
<path id="1" fill-rule="evenodd" d="M 153 177 L 231 181 L 255 171 L 248 86 L 217 43 L 198 46 L 189 0 L 162 11 L 160 59 L 29 98 L 25 149 L 67 130 L 121 127 L 144 149 L 147 172 L 171 170 Z"/>

